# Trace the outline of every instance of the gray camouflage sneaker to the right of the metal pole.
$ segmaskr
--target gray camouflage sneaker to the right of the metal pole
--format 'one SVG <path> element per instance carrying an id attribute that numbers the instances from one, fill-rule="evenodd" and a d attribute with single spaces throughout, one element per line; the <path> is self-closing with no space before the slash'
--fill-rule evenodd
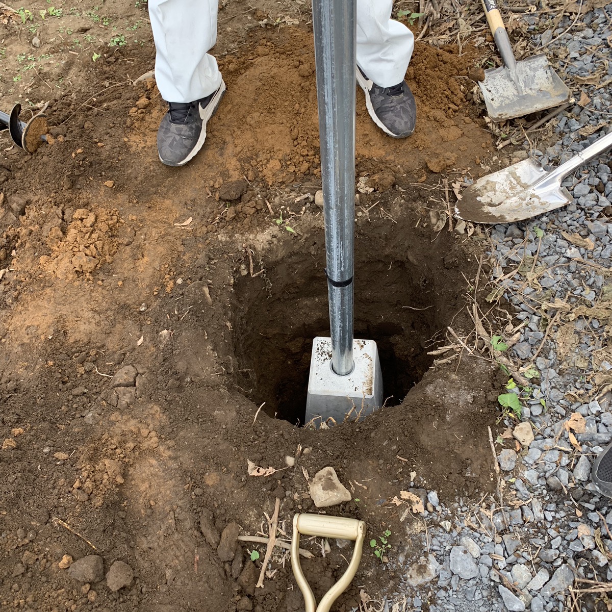
<path id="1" fill-rule="evenodd" d="M 406 81 L 393 87 L 380 87 L 357 67 L 357 83 L 364 90 L 365 106 L 372 121 L 394 138 L 414 132 L 417 107 Z"/>

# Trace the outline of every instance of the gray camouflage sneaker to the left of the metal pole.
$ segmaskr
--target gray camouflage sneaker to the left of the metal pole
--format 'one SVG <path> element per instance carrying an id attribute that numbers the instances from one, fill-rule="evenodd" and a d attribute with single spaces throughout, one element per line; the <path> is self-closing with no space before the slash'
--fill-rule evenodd
<path id="1" fill-rule="evenodd" d="M 206 140 L 206 123 L 217 112 L 225 83 L 195 102 L 170 102 L 157 130 L 157 152 L 166 166 L 182 166 L 200 151 Z"/>

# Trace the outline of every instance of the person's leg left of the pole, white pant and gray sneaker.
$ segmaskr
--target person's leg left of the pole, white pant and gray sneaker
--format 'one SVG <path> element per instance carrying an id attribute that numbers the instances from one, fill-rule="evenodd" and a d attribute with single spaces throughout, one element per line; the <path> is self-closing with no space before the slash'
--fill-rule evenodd
<path id="1" fill-rule="evenodd" d="M 160 160 L 187 163 L 206 139 L 225 83 L 208 53 L 217 39 L 218 0 L 149 0 L 155 80 L 170 108 L 157 132 Z"/>

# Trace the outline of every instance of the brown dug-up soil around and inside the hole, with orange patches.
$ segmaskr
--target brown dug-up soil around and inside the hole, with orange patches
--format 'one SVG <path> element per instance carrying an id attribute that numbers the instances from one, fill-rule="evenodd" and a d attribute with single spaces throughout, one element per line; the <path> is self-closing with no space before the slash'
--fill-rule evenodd
<path id="1" fill-rule="evenodd" d="M 49 143 L 34 155 L 7 151 L 2 136 L 8 606 L 298 610 L 286 556 L 275 552 L 255 589 L 261 559 L 253 567 L 247 549 L 263 559 L 264 546 L 243 542 L 223 562 L 211 531 L 236 521 L 255 535 L 280 498 L 290 536 L 293 514 L 315 510 L 306 477 L 330 465 L 359 499 L 330 513 L 363 518 L 372 537 L 387 525 L 393 534 L 388 567 L 365 551 L 338 600 L 349 610 L 356 585 L 392 591 L 397 559 L 421 554 L 420 521 L 390 502 L 400 490 L 449 501 L 491 487 L 494 370 L 465 358 L 431 367 L 427 355 L 447 325 L 467 326 L 466 279 L 479 258 L 477 241 L 432 233 L 425 208 L 433 173 L 476 173 L 491 144 L 469 101 L 474 56 L 417 45 L 408 81 L 419 124 L 408 140 L 384 137 L 359 105 L 357 170 L 375 191 L 357 207 L 356 332 L 378 342 L 394 398 L 364 422 L 314 431 L 288 422 L 303 411 L 309 343 L 327 335 L 312 36 L 251 28 L 244 16 L 231 24 L 216 50 L 228 94 L 185 168 L 157 159 L 164 105 L 154 82 L 126 82 L 150 69 L 151 43 L 95 64 L 76 58 L 80 78 L 51 100 Z M 251 477 L 247 460 L 280 471 Z M 319 597 L 346 550 L 332 542 L 322 559 L 320 546 L 304 545 L 316 554 L 303 566 Z M 119 592 L 82 587 L 58 567 L 64 554 L 92 553 L 105 572 L 129 563 L 135 581 Z"/>

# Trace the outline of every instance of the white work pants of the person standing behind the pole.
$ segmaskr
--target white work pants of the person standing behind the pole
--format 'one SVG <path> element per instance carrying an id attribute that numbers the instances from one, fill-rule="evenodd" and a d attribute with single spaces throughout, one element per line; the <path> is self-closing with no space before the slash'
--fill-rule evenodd
<path id="1" fill-rule="evenodd" d="M 414 37 L 391 19 L 392 0 L 356 0 L 357 65 L 381 87 L 401 83 Z M 217 60 L 218 0 L 149 0 L 155 40 L 155 80 L 167 102 L 193 102 L 221 84 Z"/>

